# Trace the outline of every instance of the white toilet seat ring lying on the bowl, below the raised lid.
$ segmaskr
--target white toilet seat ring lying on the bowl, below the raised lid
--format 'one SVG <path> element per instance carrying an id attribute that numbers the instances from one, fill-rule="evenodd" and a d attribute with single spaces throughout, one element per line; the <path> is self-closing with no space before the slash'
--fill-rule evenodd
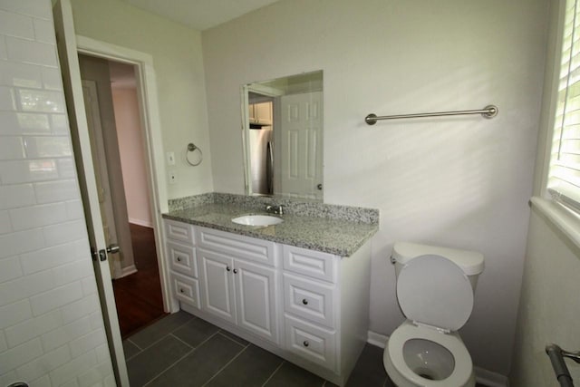
<path id="1" fill-rule="evenodd" d="M 403 357 L 403 345 L 411 339 L 422 339 L 437 343 L 452 354 L 455 367 L 448 378 L 440 381 L 431 381 L 422 378 L 411 370 Z M 396 380 L 398 376 L 401 377 L 401 381 L 404 381 L 404 383 L 410 383 L 414 386 L 464 387 L 475 385 L 471 356 L 459 338 L 459 334 L 444 334 L 436 329 L 412 324 L 409 321 L 401 324 L 391 334 L 385 349 L 383 363 L 393 382 L 398 382 L 400 385 L 404 384 Z"/>

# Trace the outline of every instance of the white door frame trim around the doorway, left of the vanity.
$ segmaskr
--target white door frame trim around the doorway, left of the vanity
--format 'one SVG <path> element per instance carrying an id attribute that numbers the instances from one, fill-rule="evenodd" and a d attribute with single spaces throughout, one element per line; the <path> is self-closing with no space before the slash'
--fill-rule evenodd
<path id="1" fill-rule="evenodd" d="M 76 44 L 78 53 L 135 66 L 137 96 L 140 103 L 140 122 L 143 129 L 141 140 L 145 145 L 147 183 L 150 191 L 151 218 L 155 230 L 157 262 L 160 268 L 163 310 L 166 313 L 176 312 L 179 306 L 175 305 L 170 296 L 169 267 L 166 264 L 165 249 L 163 248 L 164 229 L 161 214 L 168 212 L 169 206 L 165 184 L 165 159 L 163 157 L 157 82 L 153 68 L 153 58 L 148 53 L 141 53 L 79 34 L 76 35 Z"/>

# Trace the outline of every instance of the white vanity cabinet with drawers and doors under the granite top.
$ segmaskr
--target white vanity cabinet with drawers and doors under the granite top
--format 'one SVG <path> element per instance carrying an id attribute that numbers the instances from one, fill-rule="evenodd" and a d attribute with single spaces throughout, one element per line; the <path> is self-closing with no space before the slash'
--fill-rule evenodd
<path id="1" fill-rule="evenodd" d="M 344 385 L 367 340 L 370 243 L 342 257 L 168 219 L 166 237 L 181 309 Z"/>

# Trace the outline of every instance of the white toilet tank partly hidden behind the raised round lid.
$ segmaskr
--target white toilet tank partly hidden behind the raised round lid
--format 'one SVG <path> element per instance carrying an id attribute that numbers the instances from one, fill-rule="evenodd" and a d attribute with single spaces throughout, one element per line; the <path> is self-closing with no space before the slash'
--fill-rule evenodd
<path id="1" fill-rule="evenodd" d="M 392 247 L 391 263 L 395 266 L 395 276 L 399 277 L 401 268 L 417 256 L 443 256 L 455 263 L 468 276 L 473 290 L 478 285 L 478 276 L 483 271 L 484 259 L 481 253 L 449 247 L 420 245 L 409 242 L 396 242 Z"/>

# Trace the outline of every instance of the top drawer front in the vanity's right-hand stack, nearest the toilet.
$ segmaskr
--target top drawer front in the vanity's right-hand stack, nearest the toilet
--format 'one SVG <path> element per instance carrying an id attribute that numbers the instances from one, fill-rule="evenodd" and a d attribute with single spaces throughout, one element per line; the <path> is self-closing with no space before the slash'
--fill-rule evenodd
<path id="1" fill-rule="evenodd" d="M 282 247 L 282 253 L 285 270 L 332 283 L 336 281 L 337 256 L 287 245 Z"/>

